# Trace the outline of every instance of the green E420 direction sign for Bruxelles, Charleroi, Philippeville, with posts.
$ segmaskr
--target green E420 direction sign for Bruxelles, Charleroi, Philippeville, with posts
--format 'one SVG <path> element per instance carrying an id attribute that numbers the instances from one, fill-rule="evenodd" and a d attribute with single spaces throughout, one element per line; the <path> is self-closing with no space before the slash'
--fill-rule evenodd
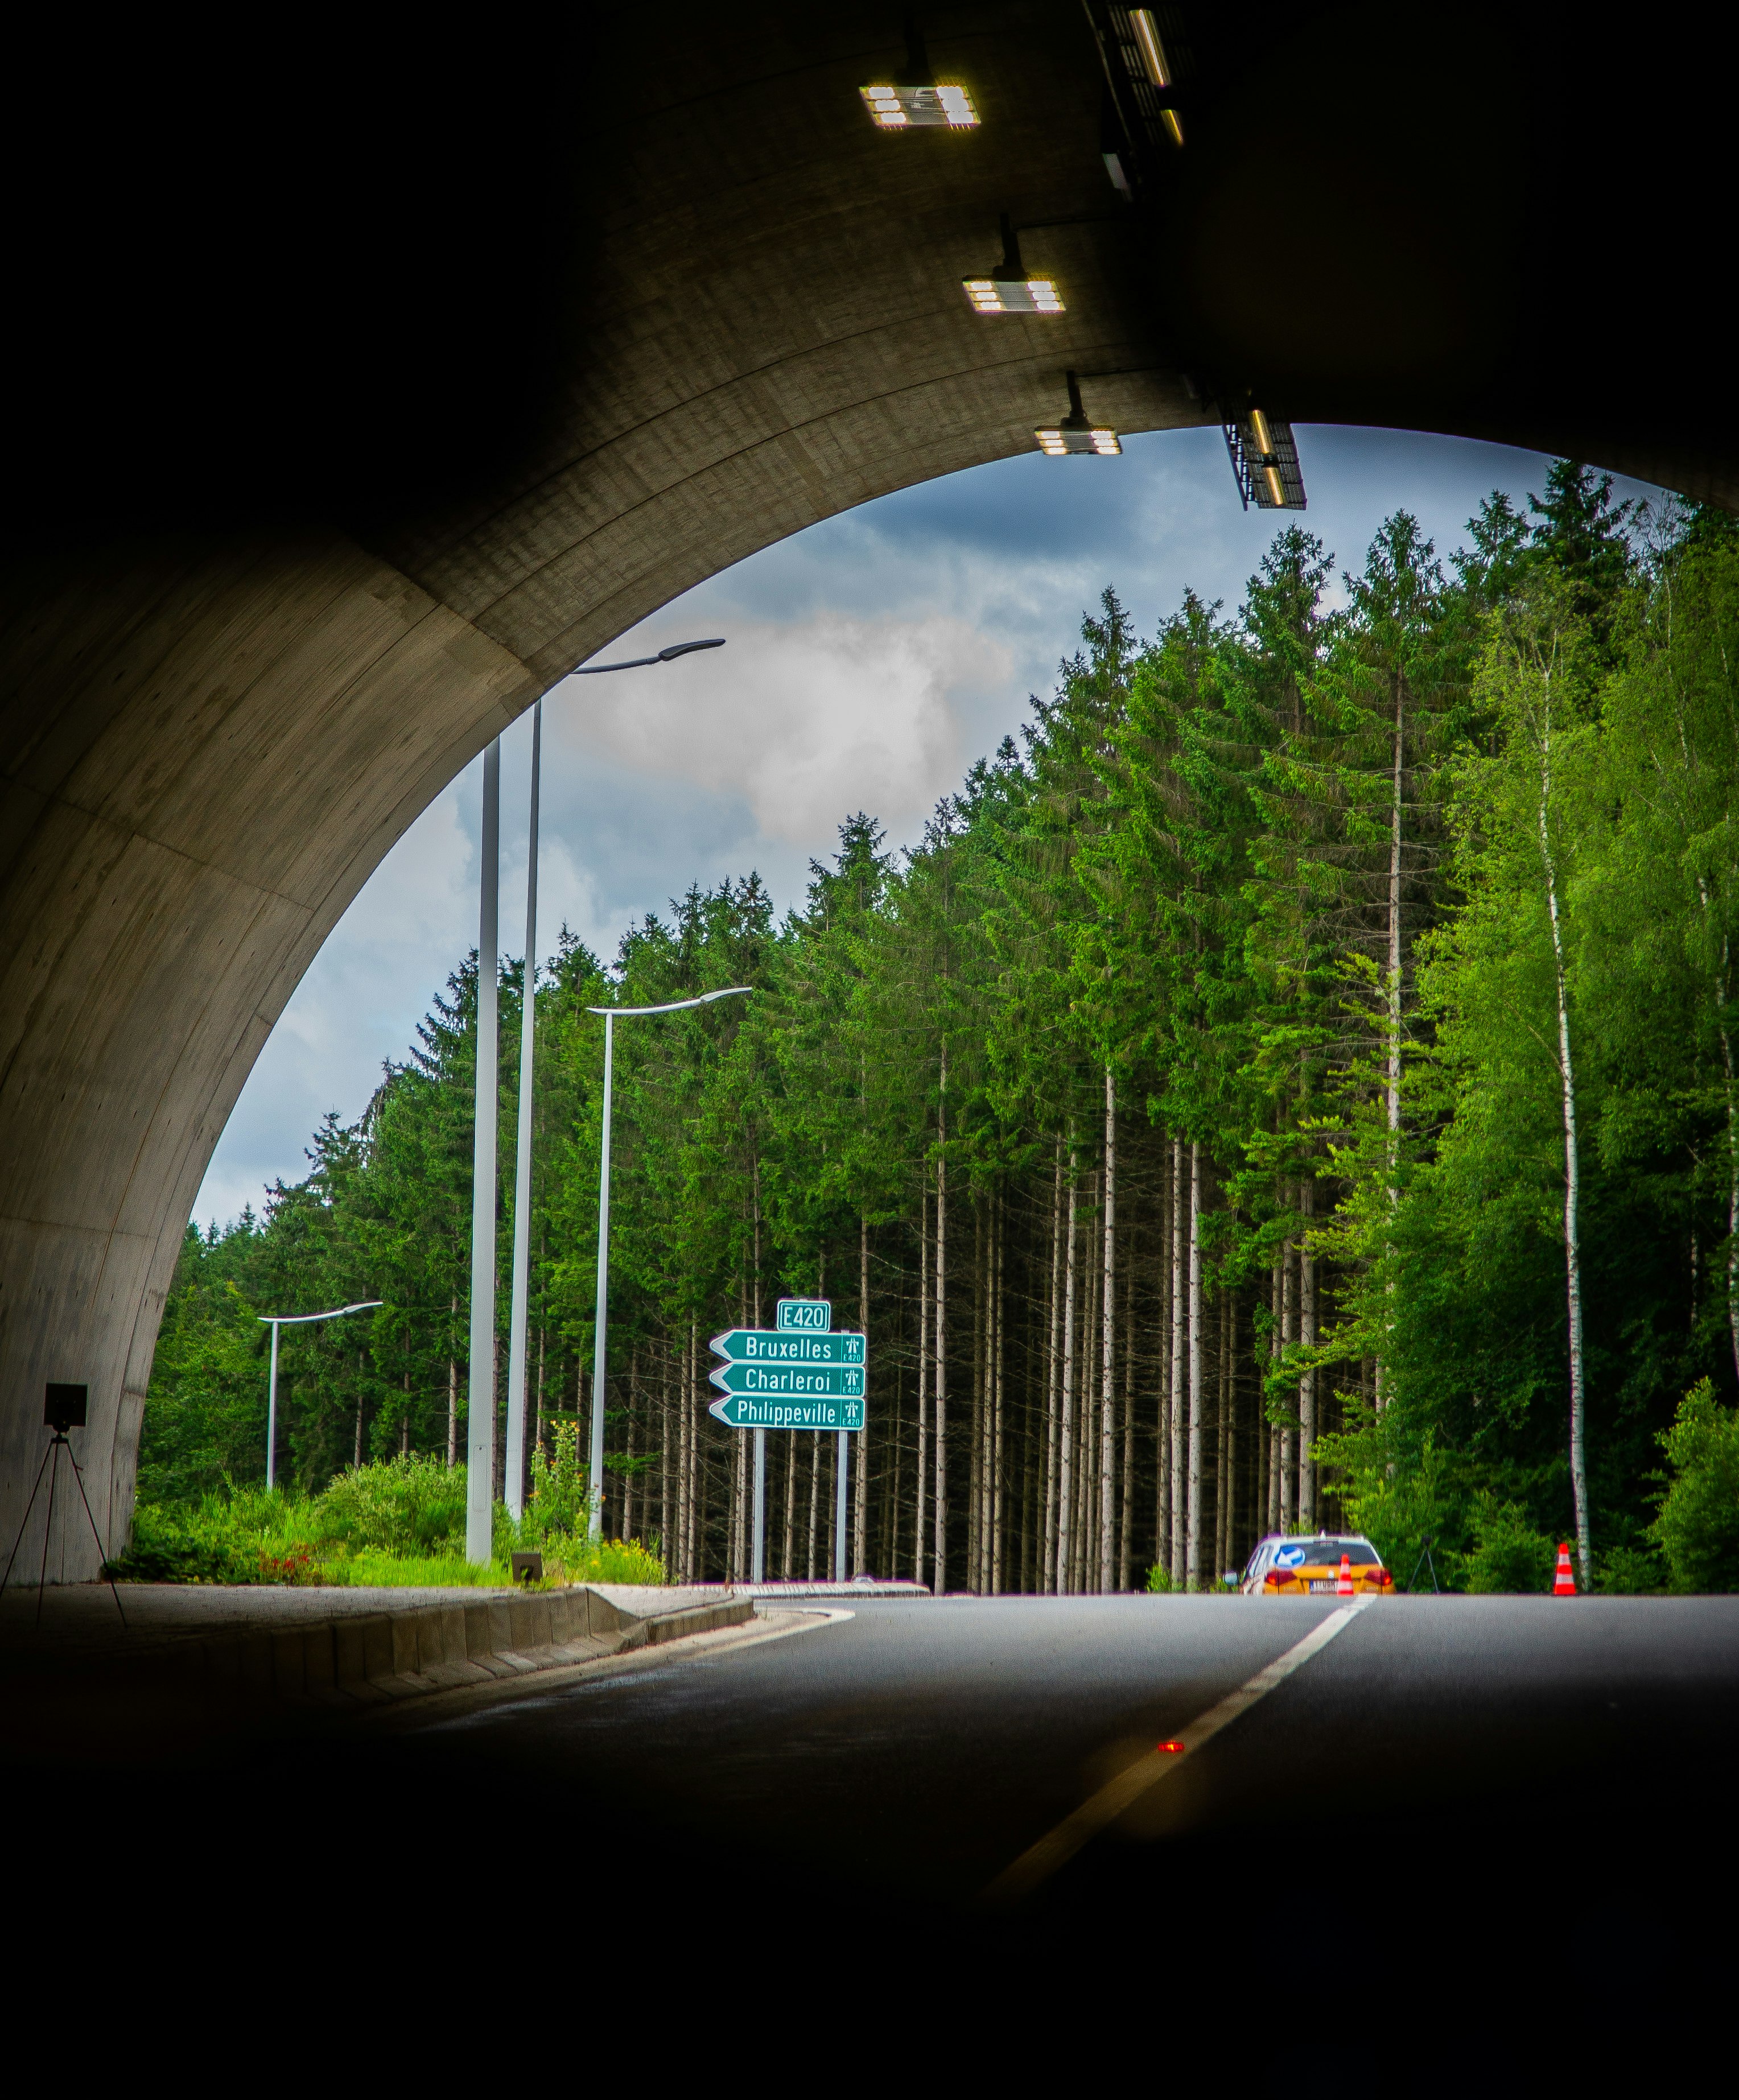
<path id="1" fill-rule="evenodd" d="M 708 1371 L 718 1386 L 708 1411 L 731 1428 L 754 1430 L 752 1579 L 767 1581 L 767 1432 L 832 1430 L 834 1581 L 844 1581 L 848 1438 L 863 1428 L 865 1338 L 834 1334 L 834 1306 L 825 1298 L 781 1298 L 773 1317 L 773 1327 L 731 1327 L 710 1342 L 725 1363 Z"/>

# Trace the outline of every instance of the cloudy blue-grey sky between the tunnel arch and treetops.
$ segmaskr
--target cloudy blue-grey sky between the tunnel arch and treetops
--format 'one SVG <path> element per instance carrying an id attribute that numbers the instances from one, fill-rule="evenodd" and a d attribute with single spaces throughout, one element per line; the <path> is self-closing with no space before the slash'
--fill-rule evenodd
<path id="1" fill-rule="evenodd" d="M 1340 569 L 1411 510 L 1445 556 L 1491 489 L 1525 504 L 1546 460 L 1403 430 L 1296 426 L 1302 519 Z M 1653 496 L 1619 483 L 1619 496 Z M 916 844 L 937 800 L 1027 718 L 1115 586 L 1143 632 L 1185 588 L 1233 613 L 1279 525 L 1241 510 L 1212 430 L 1130 437 L 1115 460 L 1038 452 L 811 525 L 632 628 L 603 662 L 727 636 L 651 670 L 563 680 L 544 701 L 538 953 L 567 924 L 609 960 L 691 882 L 758 872 L 777 907 L 863 808 Z M 525 949 L 531 716 L 502 739 L 502 956 Z M 204 1226 L 307 1174 L 336 1109 L 355 1119 L 477 945 L 483 760 L 405 832 L 332 930 L 218 1140 Z"/>

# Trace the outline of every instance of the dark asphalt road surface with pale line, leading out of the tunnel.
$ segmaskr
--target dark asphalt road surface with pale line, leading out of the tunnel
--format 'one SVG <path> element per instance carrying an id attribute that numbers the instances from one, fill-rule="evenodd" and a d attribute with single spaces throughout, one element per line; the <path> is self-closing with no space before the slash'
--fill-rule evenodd
<path id="1" fill-rule="evenodd" d="M 1376 1600 L 1021 1903 L 985 1903 L 1334 1609 L 865 1602 L 206 1772 L 179 1844 L 271 1802 L 275 1848 L 340 1884 L 368 1861 L 376 1909 L 435 1846 L 439 1900 L 554 1905 L 605 1968 L 643 1934 L 823 1978 L 802 2003 L 880 2008 L 859 2054 L 928 2008 L 1017 2083 L 1075 2033 L 1059 2008 L 1096 2003 L 1101 2054 L 1071 2060 L 1092 2083 L 1151 2083 L 1149 2033 L 1170 2062 L 1216 2050 L 1233 2092 L 1336 2100 L 1689 2071 L 1733 1995 L 1739 1598 Z"/>

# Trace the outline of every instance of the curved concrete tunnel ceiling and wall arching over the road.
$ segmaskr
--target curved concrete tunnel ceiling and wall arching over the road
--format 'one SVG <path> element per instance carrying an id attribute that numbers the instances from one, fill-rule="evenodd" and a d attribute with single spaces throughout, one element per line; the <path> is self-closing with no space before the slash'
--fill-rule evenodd
<path id="1" fill-rule="evenodd" d="M 1065 370 L 1122 430 L 1254 401 L 1739 506 L 1701 15 L 1628 48 L 1575 8 L 1155 15 L 1182 151 L 1119 126 L 1096 0 L 926 8 L 983 122 L 905 136 L 859 99 L 901 10 L 857 0 L 487 48 L 36 32 L 82 124 L 6 147 L 0 1541 L 46 1380 L 88 1382 L 124 1533 L 187 1212 L 284 1002 L 418 811 L 676 592 L 1027 449 Z M 970 311 L 1004 212 L 1063 315 Z M 50 1575 L 95 1573 L 55 1531 Z"/>

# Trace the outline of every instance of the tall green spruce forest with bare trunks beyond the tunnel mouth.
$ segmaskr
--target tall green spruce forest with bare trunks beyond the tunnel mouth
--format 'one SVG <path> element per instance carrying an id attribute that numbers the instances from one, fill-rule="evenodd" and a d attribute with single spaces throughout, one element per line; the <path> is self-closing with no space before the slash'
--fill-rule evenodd
<path id="1" fill-rule="evenodd" d="M 859 813 L 783 920 L 750 874 L 540 968 L 536 1438 L 592 1403 L 586 1008 L 750 985 L 615 1029 L 605 1529 L 670 1579 L 748 1573 L 708 1338 L 817 1294 L 869 1338 L 853 1571 L 1193 1590 L 1357 1527 L 1403 1588 L 1558 1539 L 1663 1586 L 1663 1438 L 1739 1390 L 1737 802 L 1724 512 L 1558 462 L 1449 561 L 1397 512 L 1344 578 L 1279 531 L 1235 613 L 1107 590 L 916 848 Z M 384 1300 L 284 1331 L 298 1491 L 460 1460 L 475 1008 L 473 960 L 302 1182 L 189 1226 L 145 1504 L 263 1478 L 260 1310 Z M 834 1449 L 769 1436 L 769 1577 L 832 1571 Z"/>

